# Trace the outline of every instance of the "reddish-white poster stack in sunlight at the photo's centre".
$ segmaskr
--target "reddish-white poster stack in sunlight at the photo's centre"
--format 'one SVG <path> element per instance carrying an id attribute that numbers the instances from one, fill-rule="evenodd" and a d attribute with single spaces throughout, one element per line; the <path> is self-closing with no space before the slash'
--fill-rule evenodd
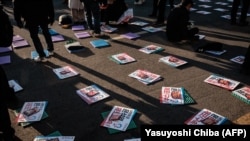
<path id="1" fill-rule="evenodd" d="M 149 72 L 147 70 L 138 69 L 128 75 L 129 77 L 135 78 L 143 84 L 151 84 L 162 79 L 158 74 Z"/>

